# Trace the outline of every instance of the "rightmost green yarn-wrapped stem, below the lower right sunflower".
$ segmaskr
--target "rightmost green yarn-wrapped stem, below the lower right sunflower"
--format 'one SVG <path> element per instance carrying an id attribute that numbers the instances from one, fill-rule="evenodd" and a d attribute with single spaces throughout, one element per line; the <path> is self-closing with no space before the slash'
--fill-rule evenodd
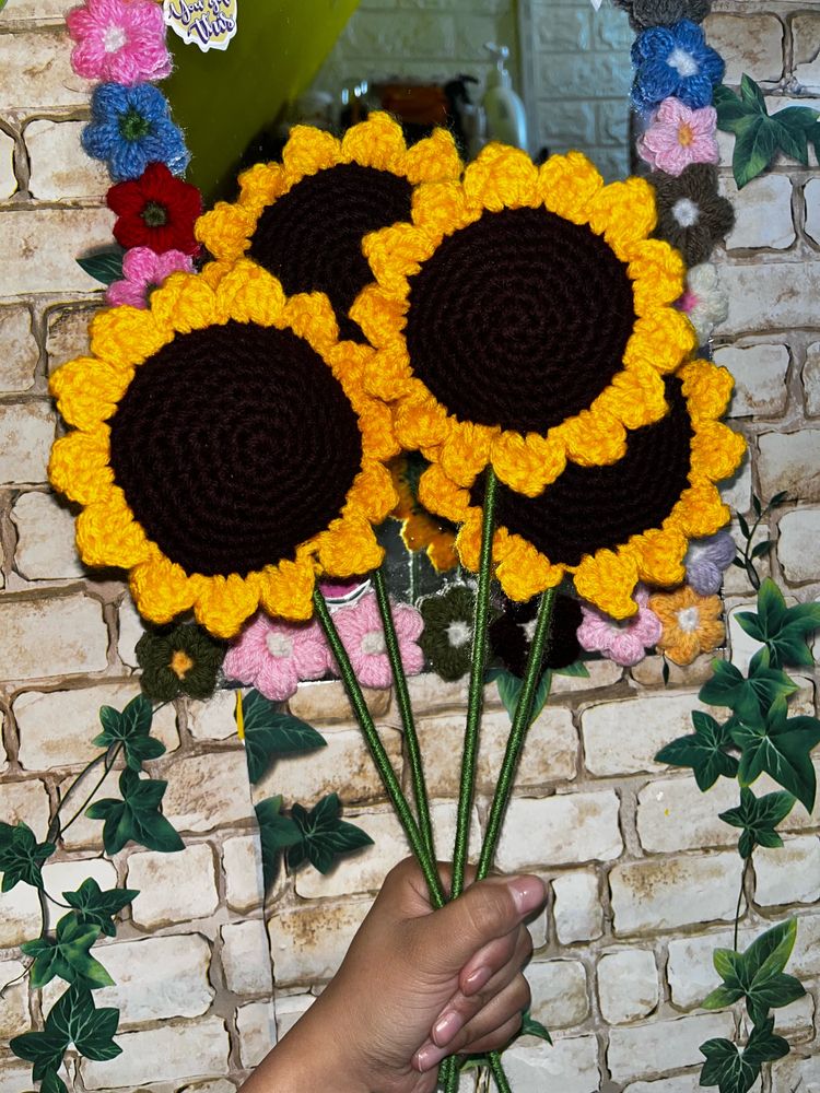
<path id="1" fill-rule="evenodd" d="M 501 773 L 495 784 L 493 802 L 490 806 L 490 814 L 484 832 L 484 842 L 479 856 L 478 873 L 476 879 L 483 880 L 492 868 L 495 857 L 495 847 L 501 834 L 501 825 L 504 821 L 504 812 L 509 801 L 513 789 L 513 778 L 520 757 L 522 748 L 529 730 L 532 718 L 532 702 L 541 674 L 541 663 L 543 654 L 549 645 L 550 624 L 552 622 L 552 609 L 555 603 L 555 589 L 548 588 L 541 597 L 538 606 L 538 616 L 536 619 L 536 630 L 529 647 L 529 657 L 524 673 L 524 684 L 518 695 L 515 706 L 515 716 L 507 738 L 507 747 L 504 753 L 504 761 L 501 764 Z"/>

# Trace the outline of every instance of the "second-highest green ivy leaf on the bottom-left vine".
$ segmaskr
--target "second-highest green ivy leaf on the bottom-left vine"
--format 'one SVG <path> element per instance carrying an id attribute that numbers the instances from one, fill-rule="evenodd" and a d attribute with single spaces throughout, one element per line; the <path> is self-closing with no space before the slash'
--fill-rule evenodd
<path id="1" fill-rule="evenodd" d="M 140 778 L 126 768 L 119 777 L 122 799 L 106 798 L 85 810 L 92 820 L 103 820 L 103 845 L 106 854 L 117 854 L 128 842 L 139 843 L 149 850 L 181 850 L 183 841 L 160 812 L 160 802 L 167 781 Z"/>

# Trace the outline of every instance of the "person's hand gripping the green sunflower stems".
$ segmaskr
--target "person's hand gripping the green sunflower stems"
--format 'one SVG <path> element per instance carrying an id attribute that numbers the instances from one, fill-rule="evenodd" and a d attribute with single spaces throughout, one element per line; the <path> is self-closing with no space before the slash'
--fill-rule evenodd
<path id="1" fill-rule="evenodd" d="M 446 889 L 449 868 L 440 872 Z M 523 924 L 543 902 L 537 877 L 494 877 L 434 912 L 421 870 L 402 861 L 332 982 L 243 1093 L 432 1093 L 445 1055 L 503 1047 L 518 1030 L 532 952 Z"/>

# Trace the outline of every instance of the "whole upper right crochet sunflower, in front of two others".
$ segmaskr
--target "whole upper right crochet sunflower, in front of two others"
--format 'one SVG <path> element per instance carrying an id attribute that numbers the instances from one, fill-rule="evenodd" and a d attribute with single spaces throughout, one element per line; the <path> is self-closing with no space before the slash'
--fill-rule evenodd
<path id="1" fill-rule="evenodd" d="M 402 446 L 456 485 L 491 463 L 530 496 L 567 459 L 620 459 L 696 343 L 655 219 L 645 180 L 605 186 L 579 152 L 539 168 L 491 144 L 462 183 L 419 186 L 412 223 L 364 240 L 377 283 L 351 309 Z"/>

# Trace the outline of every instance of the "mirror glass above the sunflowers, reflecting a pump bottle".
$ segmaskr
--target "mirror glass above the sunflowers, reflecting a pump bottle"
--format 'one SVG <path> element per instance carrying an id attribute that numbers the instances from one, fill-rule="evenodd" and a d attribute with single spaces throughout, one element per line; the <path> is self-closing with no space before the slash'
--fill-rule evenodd
<path id="1" fill-rule="evenodd" d="M 633 167 L 633 35 L 606 0 L 597 12 L 589 0 L 238 0 L 226 50 L 171 38 L 175 71 L 163 90 L 192 152 L 187 178 L 206 204 L 233 196 L 243 162 L 273 158 L 295 121 L 338 129 L 386 106 L 412 134 L 446 111 L 475 154 L 496 69 L 487 43 L 508 47 L 530 154 L 578 149 L 607 181 Z M 509 121 L 489 136 L 505 139 Z"/>

